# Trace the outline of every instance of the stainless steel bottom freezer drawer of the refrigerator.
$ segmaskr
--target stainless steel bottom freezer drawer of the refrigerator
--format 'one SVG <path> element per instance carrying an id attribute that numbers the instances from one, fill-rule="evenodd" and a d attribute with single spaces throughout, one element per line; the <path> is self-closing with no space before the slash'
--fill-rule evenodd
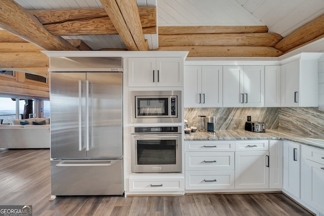
<path id="1" fill-rule="evenodd" d="M 52 195 L 123 195 L 123 160 L 51 161 Z"/>

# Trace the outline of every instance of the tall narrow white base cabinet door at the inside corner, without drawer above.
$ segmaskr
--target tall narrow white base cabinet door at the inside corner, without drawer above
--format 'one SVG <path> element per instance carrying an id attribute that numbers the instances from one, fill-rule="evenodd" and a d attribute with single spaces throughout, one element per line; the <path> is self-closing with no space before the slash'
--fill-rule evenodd
<path id="1" fill-rule="evenodd" d="M 282 188 L 282 141 L 269 141 L 269 188 Z"/>

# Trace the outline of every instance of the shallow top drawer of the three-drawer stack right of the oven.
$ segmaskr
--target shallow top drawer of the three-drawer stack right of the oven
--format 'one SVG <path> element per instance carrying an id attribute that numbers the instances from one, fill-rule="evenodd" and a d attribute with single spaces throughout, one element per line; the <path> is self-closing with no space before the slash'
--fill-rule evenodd
<path id="1" fill-rule="evenodd" d="M 186 151 L 235 151 L 235 141 L 187 141 Z"/>

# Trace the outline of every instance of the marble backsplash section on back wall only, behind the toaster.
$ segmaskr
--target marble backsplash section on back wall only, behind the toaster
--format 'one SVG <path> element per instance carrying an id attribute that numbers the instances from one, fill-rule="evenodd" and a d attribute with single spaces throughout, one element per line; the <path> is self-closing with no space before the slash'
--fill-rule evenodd
<path id="1" fill-rule="evenodd" d="M 277 129 L 279 125 L 278 107 L 257 108 L 185 108 L 184 118 L 189 126 L 199 128 L 199 115 L 213 115 L 216 123 L 215 130 L 244 129 L 247 116 L 251 115 L 252 121 L 265 122 L 266 129 Z"/>

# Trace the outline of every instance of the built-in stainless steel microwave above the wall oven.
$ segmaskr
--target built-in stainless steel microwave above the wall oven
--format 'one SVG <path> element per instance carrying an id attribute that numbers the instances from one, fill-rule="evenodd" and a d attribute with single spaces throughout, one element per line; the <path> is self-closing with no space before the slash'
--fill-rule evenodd
<path id="1" fill-rule="evenodd" d="M 131 100 L 132 123 L 182 122 L 181 91 L 133 91 Z"/>

